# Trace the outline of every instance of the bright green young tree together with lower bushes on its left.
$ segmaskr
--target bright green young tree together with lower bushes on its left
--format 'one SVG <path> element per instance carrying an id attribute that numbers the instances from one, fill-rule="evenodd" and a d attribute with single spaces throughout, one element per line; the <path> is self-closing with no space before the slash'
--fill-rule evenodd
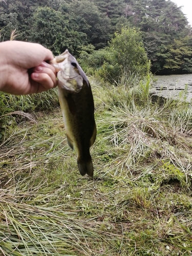
<path id="1" fill-rule="evenodd" d="M 99 74 L 112 83 L 121 83 L 125 73 L 141 79 L 150 73 L 141 34 L 134 28 L 116 32 L 109 46 L 103 49 L 96 51 L 93 45 L 82 47 L 78 61 L 88 75 Z"/>

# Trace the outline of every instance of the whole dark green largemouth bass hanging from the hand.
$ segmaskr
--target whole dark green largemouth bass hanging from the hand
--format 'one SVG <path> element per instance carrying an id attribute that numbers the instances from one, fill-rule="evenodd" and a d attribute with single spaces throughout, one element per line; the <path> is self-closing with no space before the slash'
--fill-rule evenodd
<path id="1" fill-rule="evenodd" d="M 68 50 L 56 56 L 51 63 L 58 72 L 58 96 L 68 144 L 77 151 L 80 174 L 93 177 L 90 146 L 97 132 L 90 83 Z"/>

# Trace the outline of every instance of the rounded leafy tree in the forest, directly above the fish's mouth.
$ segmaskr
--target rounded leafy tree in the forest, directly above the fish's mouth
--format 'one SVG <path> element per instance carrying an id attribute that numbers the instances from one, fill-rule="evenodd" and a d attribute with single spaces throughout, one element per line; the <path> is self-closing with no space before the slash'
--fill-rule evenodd
<path id="1" fill-rule="evenodd" d="M 86 34 L 78 32 L 75 16 L 71 13 L 39 7 L 31 23 L 29 40 L 39 42 L 55 55 L 66 49 L 69 49 L 72 54 L 77 54 L 78 47 L 86 42 Z"/>

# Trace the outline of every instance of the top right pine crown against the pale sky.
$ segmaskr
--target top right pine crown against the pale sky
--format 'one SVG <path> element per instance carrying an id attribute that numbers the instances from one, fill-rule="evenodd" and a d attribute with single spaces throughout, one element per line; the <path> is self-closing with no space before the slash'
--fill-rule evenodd
<path id="1" fill-rule="evenodd" d="M 187 25 L 181 7 L 170 0 L 125 1 L 131 10 L 127 19 L 144 32 L 156 31 L 174 36 Z"/>

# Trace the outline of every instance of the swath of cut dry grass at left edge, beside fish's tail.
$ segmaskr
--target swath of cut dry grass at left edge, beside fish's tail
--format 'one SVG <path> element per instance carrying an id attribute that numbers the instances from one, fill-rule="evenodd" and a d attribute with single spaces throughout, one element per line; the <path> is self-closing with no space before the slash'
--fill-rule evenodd
<path id="1" fill-rule="evenodd" d="M 1 183 L 2 187 L 15 187 L 21 179 L 26 185 L 26 181 L 22 178 L 31 176 L 32 169 L 36 166 L 51 161 L 52 158 L 56 161 L 59 156 L 65 151 L 66 145 L 62 144 L 63 139 L 52 137 L 44 140 L 39 137 L 29 140 L 30 131 L 24 130 L 14 132 L 0 146 L 0 168 L 1 168 Z M 55 150 L 57 148 L 57 150 Z M 19 178 L 18 178 L 19 177 Z"/>

